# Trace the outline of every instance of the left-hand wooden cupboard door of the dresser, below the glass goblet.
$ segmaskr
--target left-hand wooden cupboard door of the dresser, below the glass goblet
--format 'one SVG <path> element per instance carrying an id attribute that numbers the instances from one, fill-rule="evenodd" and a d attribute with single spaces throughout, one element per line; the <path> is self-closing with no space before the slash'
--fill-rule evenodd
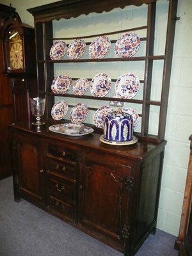
<path id="1" fill-rule="evenodd" d="M 14 168 L 14 182 L 17 193 L 32 202 L 44 202 L 44 170 L 40 142 L 36 138 L 16 135 L 15 145 L 17 165 Z"/>

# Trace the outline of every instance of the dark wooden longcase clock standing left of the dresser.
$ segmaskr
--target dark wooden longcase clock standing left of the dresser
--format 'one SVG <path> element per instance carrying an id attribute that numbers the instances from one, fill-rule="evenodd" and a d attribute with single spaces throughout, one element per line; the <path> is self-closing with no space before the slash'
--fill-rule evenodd
<path id="1" fill-rule="evenodd" d="M 29 97 L 36 94 L 35 29 L 23 24 L 10 6 L 1 28 L 3 73 L 10 77 L 15 122 L 31 118 Z"/>

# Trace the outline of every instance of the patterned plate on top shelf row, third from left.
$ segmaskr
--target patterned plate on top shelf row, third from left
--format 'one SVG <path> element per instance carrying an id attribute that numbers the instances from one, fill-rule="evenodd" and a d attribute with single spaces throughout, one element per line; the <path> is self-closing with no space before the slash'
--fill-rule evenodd
<path id="1" fill-rule="evenodd" d="M 90 58 L 102 59 L 109 52 L 111 42 L 108 36 L 97 36 L 89 47 Z"/>

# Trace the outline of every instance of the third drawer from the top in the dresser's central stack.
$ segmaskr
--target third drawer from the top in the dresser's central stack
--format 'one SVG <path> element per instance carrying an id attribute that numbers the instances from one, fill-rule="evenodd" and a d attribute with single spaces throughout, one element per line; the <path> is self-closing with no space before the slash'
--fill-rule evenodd
<path id="1" fill-rule="evenodd" d="M 61 200 L 76 203 L 76 185 L 65 180 L 47 177 L 47 188 Z"/>

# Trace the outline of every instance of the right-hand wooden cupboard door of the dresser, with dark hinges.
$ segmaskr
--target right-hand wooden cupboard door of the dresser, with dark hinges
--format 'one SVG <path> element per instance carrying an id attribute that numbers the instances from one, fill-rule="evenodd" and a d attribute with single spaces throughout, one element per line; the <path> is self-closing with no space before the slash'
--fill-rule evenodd
<path id="1" fill-rule="evenodd" d="M 131 166 L 116 163 L 118 159 L 105 161 L 100 155 L 84 154 L 80 221 L 113 241 L 120 241 L 130 221 L 131 193 L 126 180 L 131 175 Z"/>

